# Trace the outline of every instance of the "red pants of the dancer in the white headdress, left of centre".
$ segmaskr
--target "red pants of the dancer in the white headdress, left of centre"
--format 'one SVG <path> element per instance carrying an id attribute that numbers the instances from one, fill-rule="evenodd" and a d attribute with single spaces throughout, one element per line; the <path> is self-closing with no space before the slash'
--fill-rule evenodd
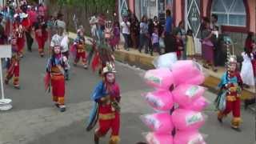
<path id="1" fill-rule="evenodd" d="M 53 101 L 59 105 L 64 105 L 65 96 L 65 78 L 63 74 L 52 74 L 51 75 L 51 86 Z"/>

